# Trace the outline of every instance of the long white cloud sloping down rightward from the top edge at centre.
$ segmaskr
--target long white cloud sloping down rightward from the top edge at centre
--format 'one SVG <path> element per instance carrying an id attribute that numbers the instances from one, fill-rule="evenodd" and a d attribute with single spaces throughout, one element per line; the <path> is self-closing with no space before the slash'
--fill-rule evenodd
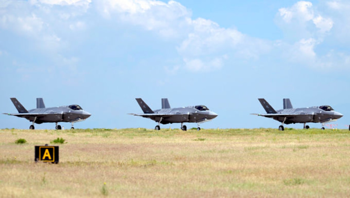
<path id="1" fill-rule="evenodd" d="M 236 29 L 222 28 L 203 18 L 192 19 L 191 12 L 176 1 L 104 0 L 99 9 L 108 19 L 117 18 L 180 40 L 177 51 L 184 67 L 194 72 L 220 69 L 230 57 L 257 59 L 271 48 L 268 42 Z"/>

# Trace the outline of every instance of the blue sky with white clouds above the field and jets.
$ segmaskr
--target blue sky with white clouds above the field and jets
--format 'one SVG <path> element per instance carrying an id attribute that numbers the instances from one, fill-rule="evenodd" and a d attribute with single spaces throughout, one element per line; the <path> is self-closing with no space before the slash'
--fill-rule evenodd
<path id="1" fill-rule="evenodd" d="M 329 124 L 348 128 L 349 30 L 342 0 L 0 0 L 0 112 L 17 112 L 12 97 L 28 110 L 43 98 L 92 114 L 75 128 L 151 129 L 156 122 L 128 115 L 142 113 L 135 98 L 152 109 L 168 98 L 218 114 L 201 128 L 278 128 L 251 113 L 265 113 L 258 98 L 276 110 L 290 98 L 330 105 L 344 116 Z M 0 128 L 30 125 L 0 115 Z"/>

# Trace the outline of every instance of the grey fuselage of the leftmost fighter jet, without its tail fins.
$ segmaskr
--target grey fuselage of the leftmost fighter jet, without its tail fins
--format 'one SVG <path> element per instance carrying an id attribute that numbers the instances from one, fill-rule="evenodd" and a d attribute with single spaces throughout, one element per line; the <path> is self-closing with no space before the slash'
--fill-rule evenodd
<path id="1" fill-rule="evenodd" d="M 78 120 L 85 120 L 91 116 L 87 111 L 84 111 L 79 105 L 69 105 L 50 108 L 35 108 L 30 109 L 28 114 L 45 114 L 35 118 L 30 116 L 26 119 L 35 123 L 43 122 L 75 122 Z"/>

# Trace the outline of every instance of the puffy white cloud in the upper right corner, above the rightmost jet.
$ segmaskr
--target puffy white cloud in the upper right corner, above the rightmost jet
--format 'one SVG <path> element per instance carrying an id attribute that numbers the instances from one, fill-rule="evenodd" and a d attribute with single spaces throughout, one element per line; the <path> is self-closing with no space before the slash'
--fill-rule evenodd
<path id="1" fill-rule="evenodd" d="M 346 8 L 341 1 L 331 1 L 326 4 L 327 9 Z M 299 1 L 291 7 L 280 8 L 276 15 L 276 22 L 283 30 L 285 38 L 279 42 L 277 48 L 281 50 L 282 57 L 289 62 L 317 69 L 349 68 L 349 65 L 346 65 L 349 61 L 346 53 L 337 52 L 334 49 L 317 50 L 322 48 L 326 37 L 339 34 L 339 31 L 334 30 L 337 24 L 342 24 L 342 28 L 344 24 L 346 26 L 346 23 L 336 23 L 334 20 L 337 20 L 334 15 L 325 16 L 308 1 Z"/>

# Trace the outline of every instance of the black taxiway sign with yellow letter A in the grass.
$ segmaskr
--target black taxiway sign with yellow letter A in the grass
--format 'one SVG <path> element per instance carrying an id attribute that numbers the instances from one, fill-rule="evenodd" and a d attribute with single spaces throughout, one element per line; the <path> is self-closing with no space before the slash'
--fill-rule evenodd
<path id="1" fill-rule="evenodd" d="M 35 161 L 58 163 L 58 146 L 35 146 Z"/>

